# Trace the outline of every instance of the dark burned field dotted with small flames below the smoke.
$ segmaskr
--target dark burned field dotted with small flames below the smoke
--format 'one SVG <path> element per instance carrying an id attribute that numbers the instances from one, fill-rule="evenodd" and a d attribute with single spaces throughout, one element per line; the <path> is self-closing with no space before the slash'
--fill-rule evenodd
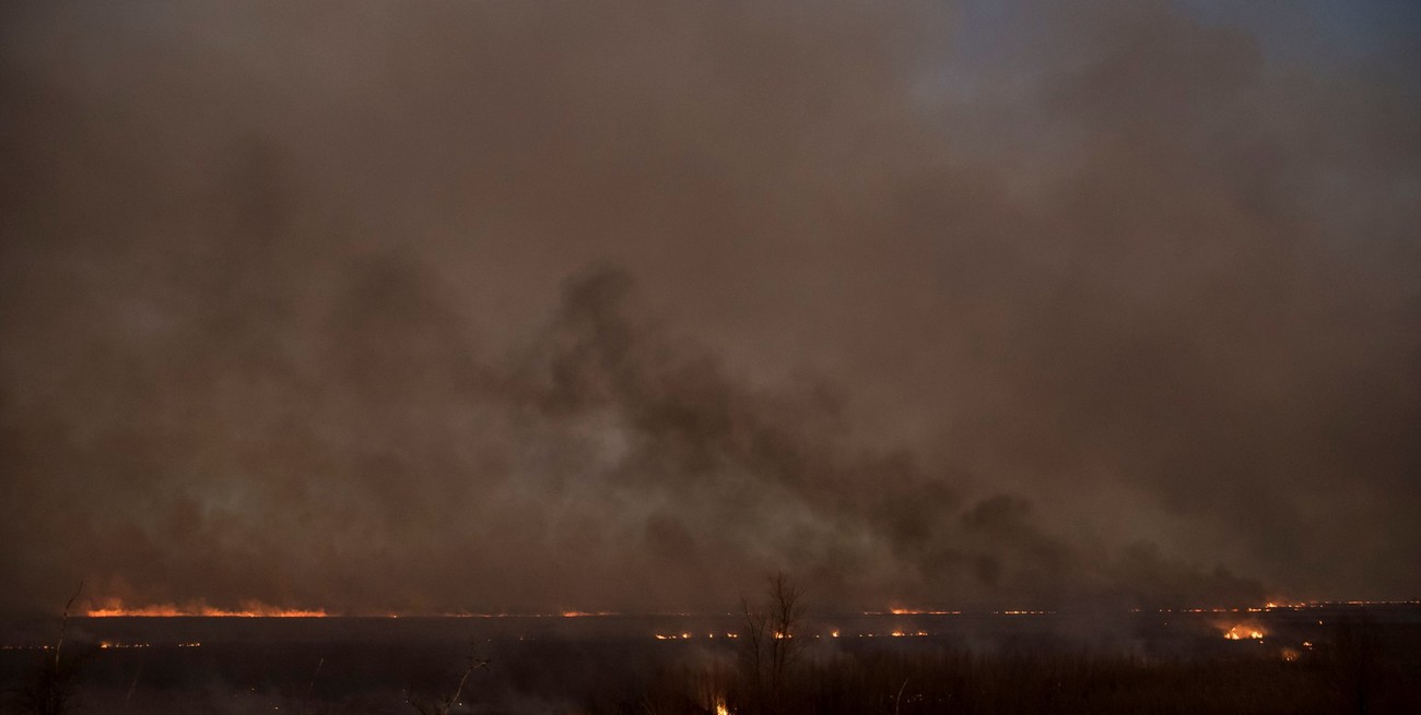
<path id="1" fill-rule="evenodd" d="M 23 691 L 53 623 L 6 624 Z M 1415 712 L 1421 607 L 807 617 L 755 699 L 736 616 L 87 617 L 75 712 Z M 7 711 L 9 712 L 9 711 Z"/>

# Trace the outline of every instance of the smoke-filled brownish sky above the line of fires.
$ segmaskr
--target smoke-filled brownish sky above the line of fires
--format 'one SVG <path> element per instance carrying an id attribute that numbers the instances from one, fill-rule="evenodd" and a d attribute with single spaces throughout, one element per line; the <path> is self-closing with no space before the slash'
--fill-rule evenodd
<path id="1" fill-rule="evenodd" d="M 1418 597 L 1418 38 L 6 3 L 0 610 Z"/>

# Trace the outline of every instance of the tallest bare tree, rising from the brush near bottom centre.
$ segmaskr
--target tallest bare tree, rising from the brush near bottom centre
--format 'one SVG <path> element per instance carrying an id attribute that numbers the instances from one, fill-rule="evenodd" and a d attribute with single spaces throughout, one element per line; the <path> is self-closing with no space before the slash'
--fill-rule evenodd
<path id="1" fill-rule="evenodd" d="M 804 593 L 789 576 L 770 579 L 767 600 L 740 599 L 740 678 L 749 714 L 784 712 L 789 675 L 809 647 L 803 633 Z"/>

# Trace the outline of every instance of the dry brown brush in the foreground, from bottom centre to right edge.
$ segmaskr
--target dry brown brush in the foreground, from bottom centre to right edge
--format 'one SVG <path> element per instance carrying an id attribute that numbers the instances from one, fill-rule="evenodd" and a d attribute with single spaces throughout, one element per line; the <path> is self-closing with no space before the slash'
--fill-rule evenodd
<path id="1" fill-rule="evenodd" d="M 1353 664 L 1326 658 L 1145 661 L 880 651 L 807 665 L 789 682 L 779 708 L 745 702 L 733 678 L 723 692 L 732 712 L 1415 714 L 1421 712 L 1417 672 L 1412 664 L 1410 671 L 1388 667 L 1358 674 Z M 710 712 L 699 682 L 695 672 L 662 672 L 634 691 L 637 697 L 595 702 L 588 711 Z"/>

